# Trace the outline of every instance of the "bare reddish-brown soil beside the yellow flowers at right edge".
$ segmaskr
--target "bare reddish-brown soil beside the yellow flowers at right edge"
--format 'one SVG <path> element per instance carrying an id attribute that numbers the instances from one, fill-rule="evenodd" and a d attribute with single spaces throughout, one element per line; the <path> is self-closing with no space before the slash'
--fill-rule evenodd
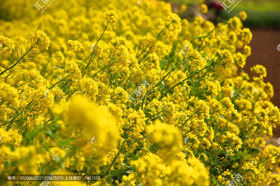
<path id="1" fill-rule="evenodd" d="M 253 38 L 250 42 L 251 53 L 247 58 L 244 71 L 250 74 L 250 67 L 261 64 L 267 70 L 264 82 L 273 85 L 274 95 L 270 100 L 274 106 L 280 108 L 280 29 L 250 29 Z M 273 137 L 280 137 L 280 127 L 273 128 Z"/>

